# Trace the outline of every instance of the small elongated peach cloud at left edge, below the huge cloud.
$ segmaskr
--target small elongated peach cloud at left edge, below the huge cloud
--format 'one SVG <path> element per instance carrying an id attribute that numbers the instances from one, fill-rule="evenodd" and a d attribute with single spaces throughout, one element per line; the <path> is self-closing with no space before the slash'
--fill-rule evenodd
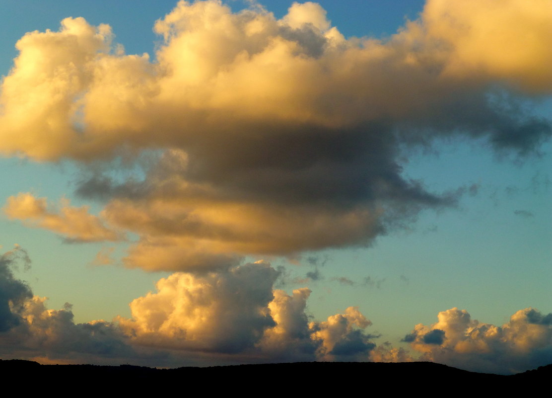
<path id="1" fill-rule="evenodd" d="M 102 219 L 88 214 L 88 206 L 71 207 L 62 199 L 59 210 L 52 209 L 46 198 L 31 193 L 10 196 L 3 212 L 10 219 L 20 219 L 27 226 L 49 229 L 61 234 L 69 242 L 100 242 L 121 240 L 123 234 L 105 227 Z"/>

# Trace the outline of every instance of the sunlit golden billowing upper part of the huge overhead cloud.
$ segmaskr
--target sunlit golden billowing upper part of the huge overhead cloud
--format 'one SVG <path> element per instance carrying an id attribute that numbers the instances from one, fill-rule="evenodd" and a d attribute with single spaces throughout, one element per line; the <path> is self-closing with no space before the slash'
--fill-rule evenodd
<path id="1" fill-rule="evenodd" d="M 31 32 L 17 43 L 20 55 L 2 83 L 1 149 L 90 159 L 124 145 L 177 146 L 225 155 L 231 166 L 240 155 L 260 161 L 251 159 L 251 145 L 268 155 L 266 140 L 305 134 L 322 139 L 312 160 L 330 160 L 321 158 L 328 136 L 347 140 L 355 128 L 374 135 L 366 123 L 381 121 L 483 127 L 506 139 L 498 123 L 506 115 L 483 93 L 493 84 L 550 93 L 548 6 L 431 0 L 420 20 L 383 43 L 346 40 L 314 3 L 294 3 L 276 20 L 259 8 L 235 14 L 219 1 L 181 1 L 155 24 L 164 38 L 155 62 L 113 48 L 107 25 L 66 18 L 59 32 Z M 473 101 L 484 106 L 479 113 Z M 464 113 L 464 125 L 439 121 L 453 109 Z M 480 112 L 494 120 L 481 125 Z M 285 159 L 270 155 L 262 157 Z"/>

